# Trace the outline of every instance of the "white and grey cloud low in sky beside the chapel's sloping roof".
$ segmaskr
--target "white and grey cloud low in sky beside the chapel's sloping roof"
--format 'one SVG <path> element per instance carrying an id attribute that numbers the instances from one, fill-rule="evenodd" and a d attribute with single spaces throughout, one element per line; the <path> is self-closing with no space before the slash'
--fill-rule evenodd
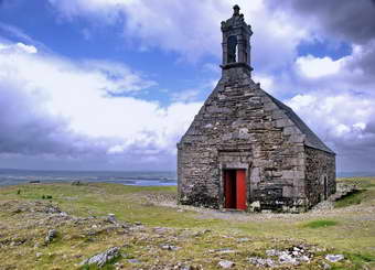
<path id="1" fill-rule="evenodd" d="M 315 91 L 287 100 L 338 153 L 339 171 L 368 171 L 375 162 L 375 98 Z"/>

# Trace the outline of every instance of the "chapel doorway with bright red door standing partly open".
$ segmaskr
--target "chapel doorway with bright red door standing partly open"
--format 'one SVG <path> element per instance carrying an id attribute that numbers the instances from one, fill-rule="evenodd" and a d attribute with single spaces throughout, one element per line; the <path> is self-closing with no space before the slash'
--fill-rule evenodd
<path id="1" fill-rule="evenodd" d="M 224 206 L 246 209 L 246 170 L 224 170 Z"/>

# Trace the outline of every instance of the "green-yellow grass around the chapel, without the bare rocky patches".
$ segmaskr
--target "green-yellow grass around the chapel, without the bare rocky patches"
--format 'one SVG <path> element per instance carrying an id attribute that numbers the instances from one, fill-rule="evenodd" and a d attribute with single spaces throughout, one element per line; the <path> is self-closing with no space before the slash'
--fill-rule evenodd
<path id="1" fill-rule="evenodd" d="M 354 198 L 344 198 L 347 202 L 342 203 L 342 207 L 353 205 L 360 198 L 361 207 L 367 207 L 366 210 L 362 213 L 358 209 L 349 208 L 349 210 L 341 212 L 342 208 L 338 208 L 338 213 L 332 212 L 326 215 L 275 215 L 271 218 L 260 218 L 265 215 L 179 212 L 175 207 L 164 207 L 148 202 L 148 197 L 175 198 L 176 187 L 174 186 L 140 187 L 106 183 L 77 186 L 54 183 L 0 187 L 0 204 L 1 202 L 41 202 L 43 204 L 52 202 L 58 204 L 69 215 L 100 217 L 114 213 L 117 219 L 129 223 L 141 222 L 147 229 L 140 233 L 139 237 L 124 235 L 120 230 L 87 236 L 85 231 L 88 228 L 85 226 L 88 225 L 62 225 L 57 228 L 56 240 L 46 247 L 41 246 L 35 249 L 35 241 L 43 242 L 47 228 L 43 226 L 29 228 L 25 226 L 26 218 L 22 218 L 24 214 L 0 209 L 0 244 L 2 240 L 32 239 L 19 247 L 0 249 L 0 261 L 19 269 L 30 269 L 30 266 L 34 269 L 76 269 L 75 264 L 83 259 L 109 247 L 119 246 L 127 256 L 119 260 L 125 269 L 147 269 L 147 267 L 129 264 L 128 258 L 137 258 L 144 263 L 152 264 L 156 257 L 167 262 L 170 260 L 190 261 L 190 264 L 203 264 L 204 269 L 216 269 L 215 266 L 219 259 L 228 259 L 236 261 L 237 269 L 246 269 L 249 256 L 261 256 L 269 248 L 288 248 L 291 242 L 294 245 L 308 242 L 325 247 L 328 251 L 345 253 L 351 262 L 345 261 L 333 266 L 336 269 L 361 269 L 358 266 L 363 264 L 368 269 L 372 269 L 371 267 L 375 269 L 375 222 L 371 214 L 373 208 L 368 208 L 375 206 L 375 179 L 340 181 L 355 182 L 361 188 L 366 188 Z M 52 198 L 42 199 L 43 195 L 50 195 Z M 227 217 L 221 217 L 225 215 Z M 175 231 L 165 237 L 153 238 L 149 230 L 157 226 L 173 228 Z M 7 229 L 3 229 L 4 227 Z M 188 237 L 180 241 L 179 237 L 185 233 L 185 229 L 188 233 L 210 229 L 211 233 Z M 248 242 L 236 241 L 237 238 L 243 237 L 250 240 Z M 173 253 L 159 250 L 158 246 L 165 242 L 175 244 L 183 249 Z M 211 249 L 218 248 L 233 248 L 238 250 L 238 253 L 217 257 L 208 252 Z M 36 251 L 43 253 L 39 260 L 35 260 Z M 150 256 L 149 252 L 156 255 Z M 308 269 L 319 269 L 314 266 L 312 263 Z M 107 266 L 107 269 L 113 268 L 113 264 Z"/>

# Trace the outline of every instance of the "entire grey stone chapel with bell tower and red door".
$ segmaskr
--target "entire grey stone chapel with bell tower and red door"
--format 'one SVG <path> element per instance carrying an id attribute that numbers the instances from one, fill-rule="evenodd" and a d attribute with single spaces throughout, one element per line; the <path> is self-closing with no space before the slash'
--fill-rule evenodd
<path id="1" fill-rule="evenodd" d="M 251 79 L 238 6 L 222 32 L 222 78 L 178 143 L 179 203 L 304 212 L 335 192 L 335 153 Z"/>

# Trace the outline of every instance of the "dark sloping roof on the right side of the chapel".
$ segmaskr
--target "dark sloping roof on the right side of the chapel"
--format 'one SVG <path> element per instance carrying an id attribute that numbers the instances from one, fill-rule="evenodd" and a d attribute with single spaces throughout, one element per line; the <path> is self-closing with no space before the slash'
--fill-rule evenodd
<path id="1" fill-rule="evenodd" d="M 266 93 L 266 91 L 265 91 Z M 288 117 L 289 119 L 297 126 L 297 128 L 306 136 L 304 144 L 310 148 L 319 149 L 332 154 L 335 154 L 329 147 L 322 142 L 321 139 L 302 121 L 297 114 L 289 108 L 287 105 L 276 99 L 268 93 L 266 95 L 278 106 Z"/>

